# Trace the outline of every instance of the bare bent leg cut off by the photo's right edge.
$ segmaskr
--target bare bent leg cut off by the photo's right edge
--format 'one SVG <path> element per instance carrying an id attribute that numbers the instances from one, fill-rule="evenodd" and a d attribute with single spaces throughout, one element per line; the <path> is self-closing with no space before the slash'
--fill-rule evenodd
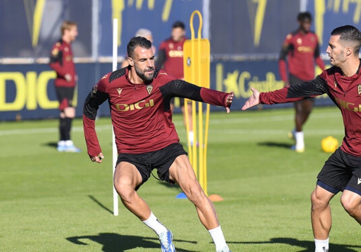
<path id="1" fill-rule="evenodd" d="M 346 212 L 361 225 L 361 196 L 349 190 L 344 190 L 341 203 Z"/>

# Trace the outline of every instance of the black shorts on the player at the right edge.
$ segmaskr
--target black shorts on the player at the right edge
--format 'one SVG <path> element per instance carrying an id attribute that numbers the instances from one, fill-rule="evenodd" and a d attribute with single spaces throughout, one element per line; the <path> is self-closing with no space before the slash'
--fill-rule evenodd
<path id="1" fill-rule="evenodd" d="M 346 189 L 361 195 L 361 157 L 338 148 L 327 159 L 317 179 L 317 185 L 331 193 Z"/>

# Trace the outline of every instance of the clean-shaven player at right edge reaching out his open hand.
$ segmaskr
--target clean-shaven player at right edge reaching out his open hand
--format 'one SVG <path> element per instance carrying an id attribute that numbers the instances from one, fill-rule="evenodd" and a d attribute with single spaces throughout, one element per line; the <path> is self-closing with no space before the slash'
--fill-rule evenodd
<path id="1" fill-rule="evenodd" d="M 345 128 L 342 145 L 325 162 L 317 176 L 316 189 L 311 195 L 311 221 L 315 251 L 328 251 L 331 229 L 330 200 L 343 191 L 344 209 L 361 224 L 361 72 L 358 53 L 361 32 L 350 25 L 331 32 L 326 52 L 332 67 L 314 80 L 296 86 L 259 93 L 245 102 L 242 110 L 259 103 L 295 102 L 309 96 L 327 94 L 340 109 Z"/>

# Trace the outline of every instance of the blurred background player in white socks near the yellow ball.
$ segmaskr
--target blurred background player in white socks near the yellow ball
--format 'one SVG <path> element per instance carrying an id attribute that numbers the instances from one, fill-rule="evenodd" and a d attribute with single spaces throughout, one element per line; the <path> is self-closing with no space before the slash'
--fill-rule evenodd
<path id="1" fill-rule="evenodd" d="M 315 77 L 315 62 L 323 70 L 325 64 L 319 56 L 318 39 L 315 33 L 310 31 L 312 16 L 309 12 L 301 12 L 297 15 L 299 28 L 289 33 L 283 42 L 279 56 L 279 72 L 284 85 L 297 85 L 312 80 Z M 288 63 L 288 76 L 286 67 Z M 292 146 L 296 152 L 304 152 L 305 143 L 302 126 L 306 122 L 313 107 L 314 98 L 295 102 L 295 129 L 290 136 L 296 144 Z"/>

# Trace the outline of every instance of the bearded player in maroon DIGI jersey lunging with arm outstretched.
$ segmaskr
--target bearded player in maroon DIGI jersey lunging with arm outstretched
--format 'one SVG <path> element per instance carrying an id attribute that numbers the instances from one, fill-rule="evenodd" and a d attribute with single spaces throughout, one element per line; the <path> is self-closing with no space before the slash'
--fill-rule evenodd
<path id="1" fill-rule="evenodd" d="M 171 231 L 157 220 L 136 192 L 155 168 L 160 180 L 178 183 L 195 204 L 216 250 L 229 251 L 213 203 L 199 185 L 179 143 L 170 99 L 179 96 L 223 106 L 229 113 L 233 93 L 199 87 L 155 69 L 151 46 L 144 37 L 133 37 L 127 45 L 129 66 L 104 75 L 87 96 L 83 125 L 88 154 L 98 163 L 104 158 L 95 132 L 95 118 L 99 105 L 108 100 L 118 149 L 114 187 L 124 206 L 155 231 L 162 251 L 175 251 Z"/>

